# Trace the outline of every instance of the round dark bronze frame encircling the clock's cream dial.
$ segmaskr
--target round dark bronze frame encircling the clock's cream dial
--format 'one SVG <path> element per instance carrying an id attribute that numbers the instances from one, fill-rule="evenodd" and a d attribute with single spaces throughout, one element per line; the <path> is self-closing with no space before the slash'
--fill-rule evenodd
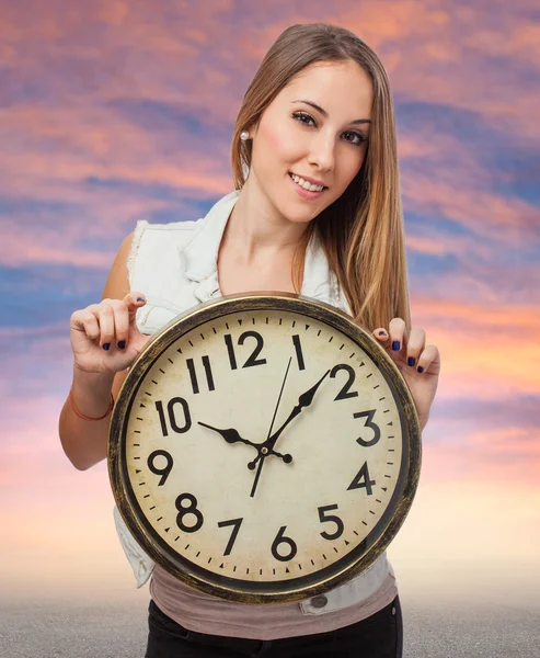
<path id="1" fill-rule="evenodd" d="M 141 382 L 157 360 L 194 329 L 226 315 L 250 311 L 264 311 L 271 316 L 298 314 L 302 321 L 311 318 L 342 332 L 366 353 L 384 378 L 392 393 L 401 424 L 399 477 L 391 500 L 376 529 L 338 560 L 306 576 L 284 580 L 256 581 L 220 576 L 173 551 L 156 532 L 141 510 L 127 465 L 126 435 L 130 413 L 135 412 L 133 404 Z M 248 293 L 220 297 L 192 307 L 152 336 L 134 362 L 118 394 L 111 419 L 107 457 L 111 485 L 118 510 L 136 541 L 157 564 L 186 585 L 222 599 L 256 604 L 285 603 L 324 593 L 351 580 L 368 568 L 388 547 L 402 526 L 417 488 L 421 427 L 414 400 L 397 365 L 370 332 L 354 322 L 347 314 L 301 295 L 282 292 Z M 180 507 L 176 509 L 180 510 Z"/>

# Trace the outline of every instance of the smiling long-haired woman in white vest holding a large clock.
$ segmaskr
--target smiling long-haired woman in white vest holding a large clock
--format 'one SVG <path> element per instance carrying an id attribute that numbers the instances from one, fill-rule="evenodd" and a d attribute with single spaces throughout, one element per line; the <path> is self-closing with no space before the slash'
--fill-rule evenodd
<path id="1" fill-rule="evenodd" d="M 397 363 L 425 427 L 440 359 L 411 327 L 393 105 L 375 53 L 341 27 L 287 29 L 244 97 L 232 171 L 235 191 L 205 218 L 139 222 L 102 302 L 73 313 L 60 439 L 77 468 L 106 457 L 114 398 L 148 334 L 199 302 L 248 291 L 301 293 L 349 313 Z M 324 597 L 243 605 L 175 580 L 117 524 L 139 586 L 152 574 L 147 658 L 402 654 L 386 554 Z"/>

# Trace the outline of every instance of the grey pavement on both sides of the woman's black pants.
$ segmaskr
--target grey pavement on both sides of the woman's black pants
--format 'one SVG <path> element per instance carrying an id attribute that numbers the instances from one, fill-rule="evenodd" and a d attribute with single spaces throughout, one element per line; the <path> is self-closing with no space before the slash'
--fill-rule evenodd
<path id="1" fill-rule="evenodd" d="M 537 606 L 400 598 L 404 658 L 540 658 Z M 142 599 L 0 603 L 1 658 L 143 658 L 146 634 Z"/>

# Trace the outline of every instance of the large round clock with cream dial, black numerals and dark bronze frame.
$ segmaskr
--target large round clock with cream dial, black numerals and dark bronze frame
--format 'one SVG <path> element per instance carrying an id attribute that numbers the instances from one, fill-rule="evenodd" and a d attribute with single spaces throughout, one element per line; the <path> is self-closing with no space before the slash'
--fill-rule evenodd
<path id="1" fill-rule="evenodd" d="M 390 358 L 342 315 L 290 302 L 169 327 L 113 417 L 113 488 L 139 543 L 229 599 L 305 598 L 365 568 L 416 485 Z"/>

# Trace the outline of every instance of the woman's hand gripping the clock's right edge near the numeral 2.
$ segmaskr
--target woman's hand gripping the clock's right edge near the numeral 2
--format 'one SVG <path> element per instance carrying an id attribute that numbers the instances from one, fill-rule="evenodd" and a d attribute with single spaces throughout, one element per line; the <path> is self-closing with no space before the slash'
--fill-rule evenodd
<path id="1" fill-rule="evenodd" d="M 424 429 L 439 381 L 440 354 L 437 347 L 425 344 L 426 332 L 421 327 L 412 327 L 407 336 L 405 322 L 401 318 L 390 320 L 388 331 L 379 327 L 372 334 L 403 375 Z M 399 348 L 394 350 L 397 342 Z M 418 372 L 418 367 L 423 370 Z"/>

